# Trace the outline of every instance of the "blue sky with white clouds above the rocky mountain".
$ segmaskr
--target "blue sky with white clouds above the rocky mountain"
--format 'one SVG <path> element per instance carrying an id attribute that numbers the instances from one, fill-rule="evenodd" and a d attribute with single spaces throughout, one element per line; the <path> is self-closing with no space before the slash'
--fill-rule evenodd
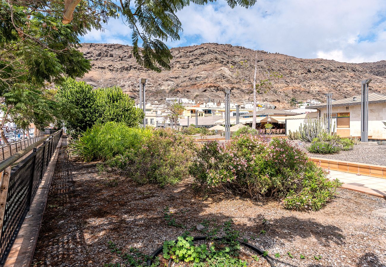
<path id="1" fill-rule="evenodd" d="M 386 0 L 258 0 L 248 9 L 218 0 L 177 15 L 184 30 L 169 47 L 217 42 L 301 58 L 386 60 Z M 131 45 L 122 19 L 105 27 L 81 41 Z"/>

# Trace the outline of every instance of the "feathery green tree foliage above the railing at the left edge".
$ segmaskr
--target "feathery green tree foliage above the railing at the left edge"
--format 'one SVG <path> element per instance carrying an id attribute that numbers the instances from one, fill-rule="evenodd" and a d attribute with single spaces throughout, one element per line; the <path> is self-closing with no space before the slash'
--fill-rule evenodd
<path id="1" fill-rule="evenodd" d="M 96 25 L 83 15 L 64 25 L 61 15 L 46 11 L 49 6 L 63 10 L 61 2 L 0 0 L 1 126 L 14 121 L 26 129 L 34 123 L 37 130 L 60 121 L 59 112 L 74 113 L 43 88 L 64 76 L 81 77 L 91 68 L 76 46 L 78 35 Z"/>

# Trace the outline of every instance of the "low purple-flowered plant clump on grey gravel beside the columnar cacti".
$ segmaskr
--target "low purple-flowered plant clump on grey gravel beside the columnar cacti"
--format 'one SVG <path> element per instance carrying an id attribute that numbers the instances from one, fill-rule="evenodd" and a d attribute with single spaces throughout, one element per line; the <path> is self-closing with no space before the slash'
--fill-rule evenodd
<path id="1" fill-rule="evenodd" d="M 323 133 L 312 140 L 307 150 L 317 154 L 334 154 L 341 150 L 347 151 L 354 147 L 354 141 L 349 138 L 340 138 L 339 135 Z"/>

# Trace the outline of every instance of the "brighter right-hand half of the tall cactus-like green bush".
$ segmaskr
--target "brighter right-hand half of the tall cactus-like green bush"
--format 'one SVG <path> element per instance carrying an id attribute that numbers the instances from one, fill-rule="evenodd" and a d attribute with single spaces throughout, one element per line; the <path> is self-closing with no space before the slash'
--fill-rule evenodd
<path id="1" fill-rule="evenodd" d="M 98 88 L 95 95 L 100 123 L 124 122 L 129 127 L 136 127 L 144 118 L 143 111 L 136 108 L 134 100 L 118 86 Z"/>

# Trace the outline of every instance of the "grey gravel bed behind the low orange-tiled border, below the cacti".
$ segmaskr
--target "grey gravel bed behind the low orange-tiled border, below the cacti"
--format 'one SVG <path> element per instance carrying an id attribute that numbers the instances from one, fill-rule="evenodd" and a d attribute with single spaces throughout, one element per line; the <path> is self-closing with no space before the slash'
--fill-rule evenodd
<path id="1" fill-rule="evenodd" d="M 338 161 L 352 161 L 364 164 L 375 164 L 386 166 L 386 145 L 354 145 L 354 148 L 349 151 L 341 151 L 337 154 L 314 154 L 308 152 L 305 147 L 310 143 L 300 140 L 291 141 L 301 150 L 305 151 L 310 157 L 321 157 L 326 159 L 335 159 Z"/>

